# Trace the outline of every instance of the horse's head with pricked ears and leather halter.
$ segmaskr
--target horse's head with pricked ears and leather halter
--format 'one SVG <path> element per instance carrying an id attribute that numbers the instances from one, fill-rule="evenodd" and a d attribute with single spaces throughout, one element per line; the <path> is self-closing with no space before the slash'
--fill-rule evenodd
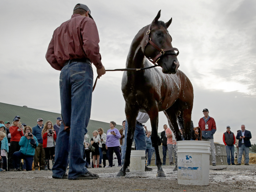
<path id="1" fill-rule="evenodd" d="M 172 37 L 167 30 L 172 23 L 172 18 L 167 23 L 158 21 L 160 12 L 161 10 L 148 26 L 142 41 L 142 49 L 152 63 L 162 67 L 163 73 L 175 74 L 180 66 L 177 59 L 178 49 L 172 47 Z"/>

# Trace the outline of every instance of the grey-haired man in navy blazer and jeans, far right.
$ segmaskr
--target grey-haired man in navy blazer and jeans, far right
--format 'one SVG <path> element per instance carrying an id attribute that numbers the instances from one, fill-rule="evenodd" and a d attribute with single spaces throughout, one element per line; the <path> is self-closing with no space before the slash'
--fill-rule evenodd
<path id="1" fill-rule="evenodd" d="M 237 165 L 241 165 L 242 154 L 245 151 L 245 163 L 244 165 L 249 165 L 249 147 L 251 147 L 250 139 L 252 138 L 251 131 L 245 130 L 245 125 L 241 125 L 241 131 L 237 133 L 236 138 L 239 147 L 239 156 L 237 160 Z"/>

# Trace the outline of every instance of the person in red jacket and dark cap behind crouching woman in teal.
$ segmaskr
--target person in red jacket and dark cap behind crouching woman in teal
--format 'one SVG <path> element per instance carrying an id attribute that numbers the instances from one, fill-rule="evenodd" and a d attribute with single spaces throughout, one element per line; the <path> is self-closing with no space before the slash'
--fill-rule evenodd
<path id="1" fill-rule="evenodd" d="M 9 128 L 9 131 L 11 133 L 9 165 L 10 170 L 14 170 L 14 161 L 12 155 L 14 154 L 14 152 L 20 150 L 19 141 L 20 138 L 24 136 L 22 126 L 19 125 L 18 118 L 14 118 L 12 126 Z"/>

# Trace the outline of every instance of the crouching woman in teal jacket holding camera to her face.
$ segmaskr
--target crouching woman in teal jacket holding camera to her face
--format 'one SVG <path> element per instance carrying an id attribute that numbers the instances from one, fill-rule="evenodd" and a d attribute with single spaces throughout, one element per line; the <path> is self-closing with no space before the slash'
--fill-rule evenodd
<path id="1" fill-rule="evenodd" d="M 14 171 L 20 171 L 20 159 L 25 159 L 26 170 L 32 170 L 32 163 L 35 154 L 35 148 L 38 146 L 38 141 L 35 136 L 32 135 L 32 128 L 27 126 L 24 128 L 25 135 L 20 138 L 19 145 L 20 151 L 16 151 L 13 154 L 14 159 Z"/>

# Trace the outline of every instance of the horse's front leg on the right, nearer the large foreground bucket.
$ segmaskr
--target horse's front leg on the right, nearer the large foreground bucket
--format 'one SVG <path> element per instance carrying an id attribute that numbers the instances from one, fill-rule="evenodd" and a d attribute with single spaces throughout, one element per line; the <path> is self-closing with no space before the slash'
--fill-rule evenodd
<path id="1" fill-rule="evenodd" d="M 151 134 L 151 141 L 152 141 L 152 146 L 155 148 L 155 154 L 156 154 L 156 164 L 157 164 L 157 177 L 166 177 L 165 172 L 163 172 L 162 169 L 162 162 L 160 159 L 159 155 L 159 148 L 158 148 L 158 135 L 157 135 L 157 130 L 158 130 L 158 109 L 155 110 L 150 110 L 149 112 L 149 117 L 150 117 L 150 123 L 151 123 L 151 128 L 152 128 L 152 134 Z"/>

